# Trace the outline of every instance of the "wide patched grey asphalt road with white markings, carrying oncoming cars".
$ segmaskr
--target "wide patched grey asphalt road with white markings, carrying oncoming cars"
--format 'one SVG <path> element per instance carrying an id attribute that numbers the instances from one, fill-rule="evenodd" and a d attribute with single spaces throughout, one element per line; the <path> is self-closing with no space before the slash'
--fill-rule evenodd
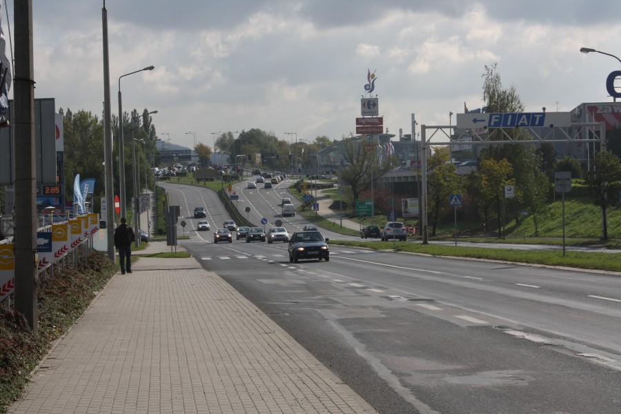
<path id="1" fill-rule="evenodd" d="M 166 188 L 182 215 L 204 202 L 210 224 L 228 218 L 210 190 Z M 250 215 L 281 219 L 279 188 L 239 193 Z M 190 236 L 205 268 L 377 411 L 621 412 L 619 275 L 339 246 L 290 264 L 287 244 Z"/>

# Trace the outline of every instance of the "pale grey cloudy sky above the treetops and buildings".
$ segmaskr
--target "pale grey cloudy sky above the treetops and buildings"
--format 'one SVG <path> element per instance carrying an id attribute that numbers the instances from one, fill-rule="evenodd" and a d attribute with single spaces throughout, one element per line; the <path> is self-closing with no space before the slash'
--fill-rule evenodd
<path id="1" fill-rule="evenodd" d="M 12 0 L 8 0 L 12 31 Z M 106 0 L 111 108 L 158 110 L 174 144 L 260 128 L 280 139 L 355 134 L 367 70 L 384 127 L 448 125 L 480 108 L 484 66 L 498 63 L 526 112 L 611 101 L 620 70 L 621 2 L 586 0 Z M 103 0 L 34 0 L 35 97 L 103 110 Z M 8 31 L 3 10 L 2 26 Z M 452 118 L 455 123 L 455 115 Z M 418 130 L 417 130 L 418 131 Z M 166 135 L 160 135 L 166 138 Z"/>

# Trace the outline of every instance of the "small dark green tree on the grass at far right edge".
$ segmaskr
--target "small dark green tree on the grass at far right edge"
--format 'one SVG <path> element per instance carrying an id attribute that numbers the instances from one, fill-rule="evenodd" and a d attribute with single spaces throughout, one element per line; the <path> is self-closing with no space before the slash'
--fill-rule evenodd
<path id="1" fill-rule="evenodd" d="M 595 152 L 593 169 L 586 173 L 586 185 L 595 196 L 593 203 L 602 210 L 602 239 L 608 240 L 607 207 L 617 204 L 621 190 L 621 164 L 610 150 Z"/>

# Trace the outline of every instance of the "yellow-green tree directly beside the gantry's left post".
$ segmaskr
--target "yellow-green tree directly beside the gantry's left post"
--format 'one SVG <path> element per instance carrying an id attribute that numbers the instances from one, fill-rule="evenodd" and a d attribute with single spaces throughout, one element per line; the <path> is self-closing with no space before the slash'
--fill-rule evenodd
<path id="1" fill-rule="evenodd" d="M 428 204 L 433 223 L 431 235 L 435 236 L 437 221 L 449 209 L 449 197 L 461 187 L 460 176 L 455 173 L 455 165 L 449 163 L 449 148 L 437 148 L 427 164 Z"/>

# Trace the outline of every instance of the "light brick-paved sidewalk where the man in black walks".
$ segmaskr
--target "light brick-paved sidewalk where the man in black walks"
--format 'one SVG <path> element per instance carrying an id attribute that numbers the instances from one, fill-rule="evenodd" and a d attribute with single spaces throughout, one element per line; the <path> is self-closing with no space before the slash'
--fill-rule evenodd
<path id="1" fill-rule="evenodd" d="M 9 413 L 375 412 L 194 258 L 141 257 L 132 270 L 59 339 Z"/>

